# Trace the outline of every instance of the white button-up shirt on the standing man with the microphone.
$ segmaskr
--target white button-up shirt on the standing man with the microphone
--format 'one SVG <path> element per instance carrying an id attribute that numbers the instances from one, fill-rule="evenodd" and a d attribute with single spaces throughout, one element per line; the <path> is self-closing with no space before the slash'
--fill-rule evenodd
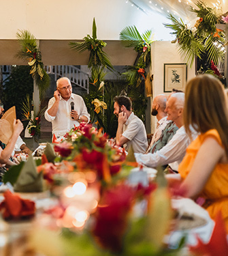
<path id="1" fill-rule="evenodd" d="M 61 97 L 61 96 L 60 96 Z M 59 101 L 59 109 L 55 117 L 48 114 L 48 110 L 55 102 L 55 98 L 52 97 L 48 102 L 48 109 L 44 113 L 44 117 L 48 122 L 52 122 L 52 134 L 55 134 L 56 138 L 63 137 L 66 132 L 69 132 L 71 128 L 79 126 L 80 123 L 71 118 L 71 102 L 74 102 L 74 110 L 78 112 L 78 115 L 84 115 L 90 120 L 90 115 L 87 112 L 86 104 L 81 96 L 77 94 L 71 94 L 69 100 L 64 100 L 61 97 Z"/>

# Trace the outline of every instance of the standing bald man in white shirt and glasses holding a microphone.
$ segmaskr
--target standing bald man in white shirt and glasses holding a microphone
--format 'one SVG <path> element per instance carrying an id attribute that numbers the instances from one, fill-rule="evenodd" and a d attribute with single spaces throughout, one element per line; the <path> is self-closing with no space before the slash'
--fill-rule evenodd
<path id="1" fill-rule="evenodd" d="M 52 134 L 57 139 L 61 139 L 74 125 L 89 122 L 86 104 L 81 96 L 72 94 L 71 81 L 67 77 L 57 80 L 54 97 L 49 100 L 44 117 L 52 122 Z"/>

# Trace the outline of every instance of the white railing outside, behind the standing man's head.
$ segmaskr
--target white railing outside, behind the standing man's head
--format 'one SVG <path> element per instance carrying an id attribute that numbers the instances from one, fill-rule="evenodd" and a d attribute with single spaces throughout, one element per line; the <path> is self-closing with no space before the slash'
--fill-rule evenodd
<path id="1" fill-rule="evenodd" d="M 44 69 L 48 74 L 54 74 L 55 81 L 61 76 L 67 76 L 72 85 L 78 85 L 86 89 L 88 93 L 88 74 L 75 66 L 45 66 Z"/>

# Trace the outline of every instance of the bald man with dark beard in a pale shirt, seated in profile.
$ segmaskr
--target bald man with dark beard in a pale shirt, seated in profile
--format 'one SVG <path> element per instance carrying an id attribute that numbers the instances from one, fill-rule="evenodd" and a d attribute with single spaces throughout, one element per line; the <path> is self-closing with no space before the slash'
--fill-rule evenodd
<path id="1" fill-rule="evenodd" d="M 167 113 L 165 113 L 166 102 L 167 96 L 165 96 L 165 94 L 160 94 L 156 96 L 152 102 L 151 115 L 157 117 L 157 126 L 154 130 L 154 134 L 150 141 L 148 150 L 146 150 L 146 153 L 151 152 L 151 148 L 153 147 L 154 143 L 156 143 L 160 139 L 165 126 L 170 122 L 170 120 L 167 120 Z"/>

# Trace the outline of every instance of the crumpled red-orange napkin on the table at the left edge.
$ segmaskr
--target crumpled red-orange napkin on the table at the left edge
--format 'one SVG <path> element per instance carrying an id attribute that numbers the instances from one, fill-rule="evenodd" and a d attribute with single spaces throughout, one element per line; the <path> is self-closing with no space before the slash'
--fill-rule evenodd
<path id="1" fill-rule="evenodd" d="M 22 199 L 10 190 L 3 193 L 5 199 L 0 204 L 0 211 L 5 219 L 31 217 L 35 214 L 35 203 L 29 199 Z"/>

